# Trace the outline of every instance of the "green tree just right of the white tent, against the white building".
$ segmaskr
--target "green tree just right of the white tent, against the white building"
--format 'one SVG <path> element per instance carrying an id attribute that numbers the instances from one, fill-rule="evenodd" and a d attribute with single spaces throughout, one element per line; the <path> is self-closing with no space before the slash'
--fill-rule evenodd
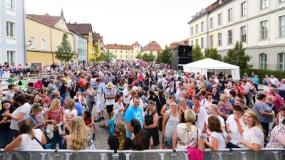
<path id="1" fill-rule="evenodd" d="M 237 41 L 234 48 L 229 49 L 227 51 L 227 55 L 224 55 L 223 62 L 237 65 L 241 69 L 247 69 L 252 68 L 252 65 L 248 64 L 251 59 L 252 56 L 245 53 L 245 48 L 242 47 L 242 42 Z"/>

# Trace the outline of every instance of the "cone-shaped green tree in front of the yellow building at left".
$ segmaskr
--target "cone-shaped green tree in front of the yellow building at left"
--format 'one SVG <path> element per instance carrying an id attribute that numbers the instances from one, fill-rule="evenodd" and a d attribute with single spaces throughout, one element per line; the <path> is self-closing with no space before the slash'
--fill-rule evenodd
<path id="1" fill-rule="evenodd" d="M 63 33 L 61 45 L 56 46 L 56 48 L 58 48 L 58 50 L 55 52 L 56 58 L 64 60 L 64 65 L 66 65 L 66 61 L 71 60 L 73 55 L 75 55 L 71 48 L 71 43 L 68 41 L 67 33 Z"/>

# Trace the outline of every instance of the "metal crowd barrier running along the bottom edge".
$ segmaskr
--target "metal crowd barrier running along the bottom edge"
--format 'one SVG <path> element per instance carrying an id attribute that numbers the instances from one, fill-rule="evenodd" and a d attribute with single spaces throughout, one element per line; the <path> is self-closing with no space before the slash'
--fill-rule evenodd
<path id="1" fill-rule="evenodd" d="M 220 149 L 214 152 L 206 149 L 205 160 L 284 160 L 285 149 L 261 149 L 258 153 L 249 149 Z M 191 156 L 191 155 L 190 155 Z M 188 160 L 186 149 L 180 150 L 145 150 L 145 151 L 112 151 L 112 150 L 14 150 L 3 153 L 0 150 L 0 160 Z"/>

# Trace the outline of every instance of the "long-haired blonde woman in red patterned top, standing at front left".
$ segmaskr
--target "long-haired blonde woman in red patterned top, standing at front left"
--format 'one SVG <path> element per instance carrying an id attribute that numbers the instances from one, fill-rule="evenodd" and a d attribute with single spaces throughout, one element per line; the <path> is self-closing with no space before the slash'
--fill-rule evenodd
<path id="1" fill-rule="evenodd" d="M 63 149 L 63 138 L 61 131 L 63 129 L 64 108 L 61 107 L 61 100 L 53 99 L 51 107 L 48 108 L 45 115 L 48 127 L 46 132 L 51 139 L 51 149 L 56 149 L 58 143 L 59 149 Z"/>

